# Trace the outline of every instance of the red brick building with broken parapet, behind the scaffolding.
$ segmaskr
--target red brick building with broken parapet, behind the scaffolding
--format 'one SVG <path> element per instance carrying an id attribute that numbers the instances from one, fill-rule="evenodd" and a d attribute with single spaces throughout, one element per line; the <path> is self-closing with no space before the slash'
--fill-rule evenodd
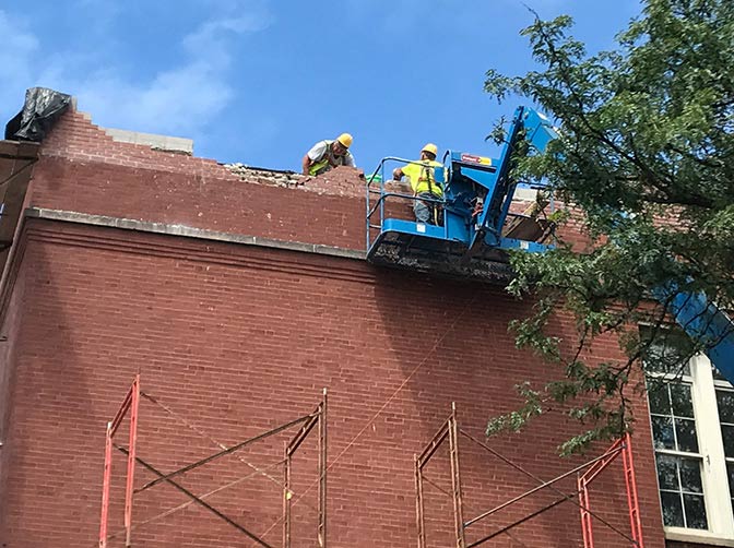
<path id="1" fill-rule="evenodd" d="M 513 300 L 498 285 L 368 264 L 365 182 L 355 170 L 338 168 L 299 184 L 298 175 L 223 166 L 189 155 L 189 146 L 105 130 L 74 109 L 39 145 L 0 143 L 0 175 L 12 176 L 0 217 L 0 240 L 7 241 L 0 546 L 97 544 L 105 428 L 139 372 L 151 398 L 141 402 L 138 456 L 166 473 L 215 453 L 217 443 L 230 446 L 310 413 L 328 388 L 332 547 L 415 546 L 414 454 L 449 416 L 451 402 L 462 429 L 544 480 L 605 450 L 559 458 L 556 446 L 578 428 L 560 413 L 521 434 L 485 440 L 487 418 L 519 403 L 513 385 L 559 373 L 516 349 L 508 333 L 508 322 L 530 313 L 532 302 Z M 294 151 L 294 162 L 298 156 Z M 559 318 L 557 331 L 571 341 L 571 319 Z M 613 338 L 593 348 L 599 360 L 619 353 Z M 713 398 L 731 406 L 731 386 L 709 379 L 706 395 L 696 376 L 692 407 L 676 400 L 665 407 L 659 397 L 652 413 L 664 428 L 666 417 L 689 420 L 695 410 L 699 433 L 707 432 L 698 448 L 678 438 L 668 446 L 659 433 L 653 449 L 647 402 L 635 404 L 648 548 L 698 546 L 683 541 L 696 535 L 701 545 L 734 546 L 729 491 L 725 485 L 717 491 L 707 476 L 712 460 L 734 458 L 727 438 L 734 418 L 720 417 L 723 444 L 711 426 Z M 283 472 L 276 463 L 288 437 L 269 438 L 178 480 L 197 495 L 230 485 L 206 501 L 282 546 Z M 309 438 L 294 461 L 295 547 L 318 546 L 316 453 Z M 667 543 L 656 453 L 664 455 L 661 470 L 675 472 L 675 481 L 667 475 L 660 486 L 666 520 L 688 526 L 668 529 Z M 476 445 L 462 441 L 460 455 L 466 520 L 537 485 Z M 676 458 L 702 467 L 706 497 L 671 468 Z M 117 452 L 114 466 L 109 532 L 118 533 L 125 457 Z M 717 466 L 714 480 L 725 484 L 726 464 Z M 141 466 L 135 474 L 138 487 L 155 478 Z M 428 546 L 455 546 L 446 446 L 426 476 Z M 629 534 L 621 467 L 607 468 L 596 481 L 594 512 Z M 558 487 L 575 493 L 576 476 Z M 546 491 L 477 524 L 469 544 L 558 499 Z M 682 508 L 705 508 L 712 533 L 700 532 L 695 509 L 684 521 L 674 515 L 674 496 Z M 137 495 L 132 546 L 257 546 L 196 504 L 173 511 L 187 501 L 167 485 Z M 582 546 L 579 522 L 579 508 L 564 502 L 483 546 Z M 630 546 L 599 521 L 594 535 L 596 547 Z M 125 543 L 117 536 L 108 546 Z"/>

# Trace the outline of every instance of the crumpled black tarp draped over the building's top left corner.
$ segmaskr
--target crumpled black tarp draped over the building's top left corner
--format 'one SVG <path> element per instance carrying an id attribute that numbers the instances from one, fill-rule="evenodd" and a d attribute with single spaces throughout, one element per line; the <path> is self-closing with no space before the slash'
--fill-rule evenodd
<path id="1" fill-rule="evenodd" d="M 25 104 L 5 126 L 5 139 L 43 141 L 56 120 L 71 105 L 71 95 L 47 87 L 31 87 L 25 92 Z"/>

